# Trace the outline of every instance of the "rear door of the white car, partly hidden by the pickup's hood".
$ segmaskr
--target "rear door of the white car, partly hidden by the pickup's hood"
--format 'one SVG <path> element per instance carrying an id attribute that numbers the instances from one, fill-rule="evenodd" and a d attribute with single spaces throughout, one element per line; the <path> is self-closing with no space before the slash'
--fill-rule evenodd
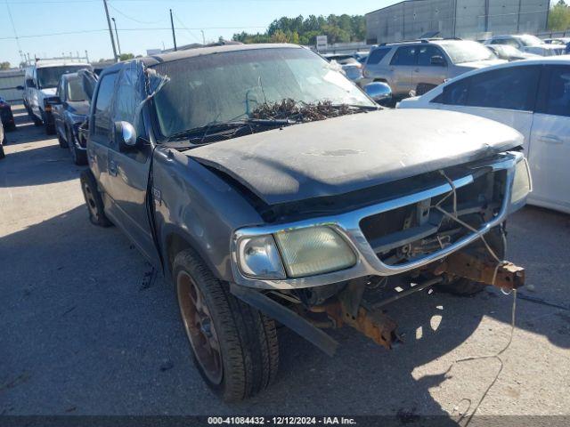
<path id="1" fill-rule="evenodd" d="M 517 129 L 528 148 L 540 66 L 496 68 L 446 85 L 442 109 L 490 118 Z"/>

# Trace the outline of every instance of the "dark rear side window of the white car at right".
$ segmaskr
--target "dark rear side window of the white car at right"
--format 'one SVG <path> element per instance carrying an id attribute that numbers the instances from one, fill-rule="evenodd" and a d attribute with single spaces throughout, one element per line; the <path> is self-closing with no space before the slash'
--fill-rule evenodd
<path id="1" fill-rule="evenodd" d="M 470 77 L 467 105 L 531 110 L 539 72 L 538 67 L 510 67 Z"/>

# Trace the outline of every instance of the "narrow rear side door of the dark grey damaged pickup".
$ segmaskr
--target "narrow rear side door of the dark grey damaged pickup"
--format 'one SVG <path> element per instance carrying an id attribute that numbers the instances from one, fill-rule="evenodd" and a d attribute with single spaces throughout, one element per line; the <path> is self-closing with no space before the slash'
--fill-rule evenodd
<path id="1" fill-rule="evenodd" d="M 102 197 L 106 211 L 113 210 L 110 205 L 110 199 L 107 197 L 107 189 L 109 189 L 110 185 L 107 163 L 109 160 L 108 149 L 111 131 L 110 109 L 117 77 L 117 71 L 103 75 L 97 86 L 98 89 L 91 108 L 92 114 L 89 119 L 87 159 L 102 189 Z M 110 216 L 112 216 L 112 212 Z"/>

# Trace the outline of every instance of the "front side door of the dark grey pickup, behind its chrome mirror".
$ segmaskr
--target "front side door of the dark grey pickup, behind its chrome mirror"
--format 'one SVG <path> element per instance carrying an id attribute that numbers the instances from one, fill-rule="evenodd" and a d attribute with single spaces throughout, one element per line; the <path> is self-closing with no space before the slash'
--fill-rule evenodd
<path id="1" fill-rule="evenodd" d="M 147 189 L 151 169 L 151 145 L 145 131 L 139 106 L 144 99 L 142 64 L 132 62 L 123 68 L 115 85 L 111 127 L 118 122 L 134 126 L 137 146 L 126 148 L 120 135 L 111 132 L 109 144 L 109 185 L 116 223 L 131 238 L 149 261 L 159 265 L 159 254 L 151 233 L 147 209 Z"/>

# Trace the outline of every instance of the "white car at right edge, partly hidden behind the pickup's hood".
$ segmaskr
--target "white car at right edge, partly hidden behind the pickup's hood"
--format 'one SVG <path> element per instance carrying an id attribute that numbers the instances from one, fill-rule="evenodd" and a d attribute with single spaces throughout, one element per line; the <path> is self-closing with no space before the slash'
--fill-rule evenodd
<path id="1" fill-rule="evenodd" d="M 447 109 L 509 125 L 523 143 L 533 173 L 528 201 L 570 213 L 570 60 L 521 60 L 473 71 L 401 109 Z"/>

